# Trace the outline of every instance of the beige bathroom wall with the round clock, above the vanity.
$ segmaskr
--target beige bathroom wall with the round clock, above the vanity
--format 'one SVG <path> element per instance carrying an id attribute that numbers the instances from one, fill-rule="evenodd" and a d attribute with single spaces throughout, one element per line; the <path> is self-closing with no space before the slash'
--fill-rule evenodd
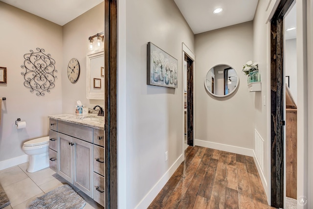
<path id="1" fill-rule="evenodd" d="M 88 38 L 104 31 L 104 2 L 63 26 L 63 71 L 62 71 L 62 108 L 63 113 L 74 113 L 76 101 L 87 107 L 100 105 L 104 100 L 86 98 L 86 54 L 89 53 Z M 78 81 L 72 84 L 67 79 L 67 64 L 76 58 L 80 66 Z M 104 85 L 104 84 L 102 84 Z"/>

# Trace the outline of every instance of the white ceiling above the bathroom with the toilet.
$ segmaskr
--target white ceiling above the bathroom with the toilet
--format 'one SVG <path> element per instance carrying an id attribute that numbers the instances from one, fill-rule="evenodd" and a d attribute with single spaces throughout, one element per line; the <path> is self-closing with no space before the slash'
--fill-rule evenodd
<path id="1" fill-rule="evenodd" d="M 1 0 L 61 26 L 103 0 Z"/>

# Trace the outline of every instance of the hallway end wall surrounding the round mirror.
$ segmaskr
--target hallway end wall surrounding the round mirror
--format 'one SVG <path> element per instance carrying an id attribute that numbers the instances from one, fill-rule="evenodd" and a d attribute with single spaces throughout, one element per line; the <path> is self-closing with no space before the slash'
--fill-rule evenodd
<path id="1" fill-rule="evenodd" d="M 242 72 L 253 59 L 252 28 L 247 22 L 195 35 L 195 139 L 253 148 L 254 93 L 248 92 Z M 237 70 L 240 80 L 237 91 L 224 98 L 207 93 L 203 85 L 207 71 L 219 64 Z"/>

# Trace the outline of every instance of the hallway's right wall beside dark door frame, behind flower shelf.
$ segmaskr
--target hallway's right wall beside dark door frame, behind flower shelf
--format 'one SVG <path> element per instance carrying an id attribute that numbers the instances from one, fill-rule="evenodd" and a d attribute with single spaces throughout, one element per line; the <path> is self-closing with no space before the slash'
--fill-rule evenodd
<path id="1" fill-rule="evenodd" d="M 254 15 L 253 20 L 253 60 L 259 64 L 259 72 L 261 74 L 262 82 L 262 92 L 255 93 L 254 100 L 254 118 L 255 119 L 255 129 L 258 131 L 260 136 L 264 139 L 264 177 L 266 184 L 263 184 L 265 191 L 270 200 L 270 137 L 268 136 L 268 115 L 270 114 L 270 94 L 268 93 L 268 88 L 270 83 L 268 81 L 269 76 L 269 66 L 268 54 L 269 54 L 269 23 L 268 13 L 271 8 L 268 9 L 266 13 L 266 8 L 268 6 L 267 1 L 259 1 Z M 265 98 L 266 106 L 262 105 L 262 100 Z M 253 147 L 254 149 L 254 147 Z M 263 182 L 264 183 L 264 182 Z"/>

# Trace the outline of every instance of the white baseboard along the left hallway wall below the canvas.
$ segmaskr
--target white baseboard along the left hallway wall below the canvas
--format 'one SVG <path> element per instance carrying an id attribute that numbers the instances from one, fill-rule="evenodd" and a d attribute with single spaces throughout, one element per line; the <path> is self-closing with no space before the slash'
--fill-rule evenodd
<path id="1" fill-rule="evenodd" d="M 179 167 L 180 163 L 183 162 L 182 154 L 179 158 L 173 163 L 173 165 L 166 171 L 166 173 L 161 177 L 161 179 L 153 186 L 150 191 L 142 198 L 142 200 L 138 203 L 135 209 L 146 209 L 152 203 L 152 201 L 156 198 L 156 195 L 161 191 L 161 189 L 165 186 L 167 181 L 174 174 L 176 169 Z"/>

